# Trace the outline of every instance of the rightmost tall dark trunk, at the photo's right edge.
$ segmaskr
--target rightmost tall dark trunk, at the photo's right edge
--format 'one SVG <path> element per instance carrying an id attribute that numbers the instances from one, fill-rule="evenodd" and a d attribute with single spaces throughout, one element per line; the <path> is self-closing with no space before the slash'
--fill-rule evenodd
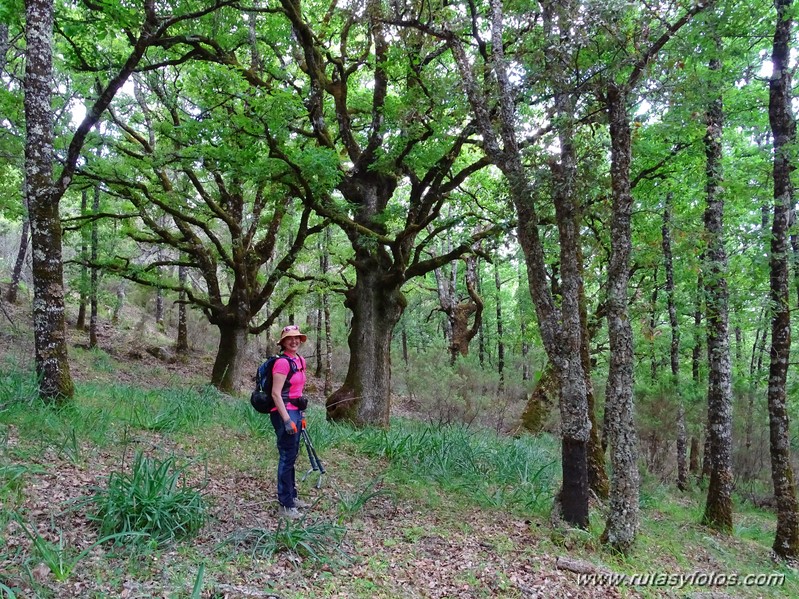
<path id="1" fill-rule="evenodd" d="M 796 123 L 791 112 L 790 40 L 792 0 L 777 0 L 777 27 L 769 82 L 769 121 L 774 135 L 774 220 L 771 226 L 771 362 L 768 412 L 771 440 L 771 479 L 777 500 L 774 552 L 783 559 L 799 556 L 799 504 L 791 465 L 791 433 L 786 381 L 791 352 L 790 285 L 788 277 L 788 227 L 793 208 L 791 154 Z"/>

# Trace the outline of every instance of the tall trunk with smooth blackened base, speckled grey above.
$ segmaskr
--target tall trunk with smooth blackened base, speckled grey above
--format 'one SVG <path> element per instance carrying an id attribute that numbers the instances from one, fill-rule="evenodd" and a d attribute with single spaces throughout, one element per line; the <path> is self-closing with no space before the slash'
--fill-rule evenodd
<path id="1" fill-rule="evenodd" d="M 497 3 L 495 6 L 499 6 Z M 575 188 L 577 179 L 577 157 L 574 147 L 574 114 L 576 95 L 567 81 L 566 73 L 571 58 L 566 51 L 567 38 L 573 27 L 573 17 L 578 8 L 574 2 L 563 2 L 552 10 L 545 11 L 545 29 L 551 42 L 546 58 L 553 69 L 555 87 L 554 108 L 558 141 L 560 143 L 560 160 L 550 163 L 553 174 L 552 197 L 555 203 L 555 218 L 560 238 L 560 309 L 554 308 L 551 289 L 543 290 L 547 285 L 546 269 L 543 263 L 540 239 L 536 234 L 528 236 L 530 243 L 538 247 L 528 254 L 528 280 L 536 277 L 539 280 L 530 284 L 531 297 L 536 303 L 536 311 L 541 323 L 541 336 L 544 347 L 554 363 L 560 382 L 560 415 L 562 434 L 563 487 L 561 503 L 563 518 L 567 522 L 579 526 L 588 526 L 589 477 L 589 445 L 591 432 L 595 426 L 589 411 L 588 373 L 584 368 L 584 337 L 581 318 L 582 253 L 580 248 L 580 206 Z M 520 177 L 520 171 L 515 176 Z M 525 201 L 530 201 L 529 197 Z M 519 207 L 517 204 L 517 211 Z M 529 209 L 528 209 L 529 214 Z M 525 211 L 519 211 L 521 228 Z M 537 227 L 537 216 L 531 214 L 527 226 Z M 522 244 L 524 248 L 524 244 Z M 532 260 L 530 260 L 530 258 Z M 534 271 L 530 270 L 533 266 Z M 556 278 L 552 279 L 553 284 Z M 534 291 L 535 289 L 535 291 Z M 543 324 L 546 322 L 546 324 Z"/>

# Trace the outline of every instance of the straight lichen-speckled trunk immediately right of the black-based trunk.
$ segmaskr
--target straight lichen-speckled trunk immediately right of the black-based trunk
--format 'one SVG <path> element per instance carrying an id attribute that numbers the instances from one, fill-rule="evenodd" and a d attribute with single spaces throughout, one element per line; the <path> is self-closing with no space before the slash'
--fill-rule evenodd
<path id="1" fill-rule="evenodd" d="M 608 336 L 610 369 L 605 410 L 610 418 L 610 510 L 603 539 L 625 553 L 638 530 L 638 438 L 633 414 L 633 338 L 627 313 L 629 262 L 632 248 L 630 192 L 631 140 L 627 94 L 611 84 L 607 90 L 611 140 L 611 256 L 608 269 Z"/>

